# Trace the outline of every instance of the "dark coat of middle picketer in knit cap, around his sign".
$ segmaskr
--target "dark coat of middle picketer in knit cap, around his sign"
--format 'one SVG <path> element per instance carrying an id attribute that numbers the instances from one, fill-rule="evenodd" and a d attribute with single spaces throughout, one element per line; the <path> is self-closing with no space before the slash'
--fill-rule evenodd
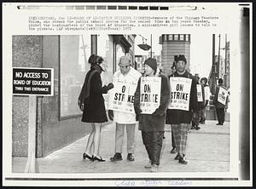
<path id="1" fill-rule="evenodd" d="M 166 109 L 170 102 L 170 83 L 168 77 L 158 72 L 155 77 L 161 77 L 160 88 L 160 106 L 152 114 L 141 114 L 140 109 L 140 89 L 141 77 L 137 83 L 137 89 L 134 94 L 134 110 L 137 113 L 139 121 L 139 130 L 151 131 L 165 131 L 166 125 Z"/>

